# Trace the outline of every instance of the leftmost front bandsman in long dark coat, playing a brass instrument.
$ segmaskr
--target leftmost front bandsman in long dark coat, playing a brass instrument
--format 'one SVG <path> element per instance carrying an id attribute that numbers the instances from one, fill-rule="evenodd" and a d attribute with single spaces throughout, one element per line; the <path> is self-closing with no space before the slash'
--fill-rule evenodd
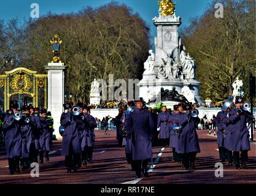
<path id="1" fill-rule="evenodd" d="M 14 171 L 20 172 L 21 157 L 21 123 L 20 119 L 15 118 L 17 106 L 12 105 L 9 115 L 4 119 L 2 130 L 4 131 L 4 140 L 9 164 L 9 175 L 14 175 Z"/>

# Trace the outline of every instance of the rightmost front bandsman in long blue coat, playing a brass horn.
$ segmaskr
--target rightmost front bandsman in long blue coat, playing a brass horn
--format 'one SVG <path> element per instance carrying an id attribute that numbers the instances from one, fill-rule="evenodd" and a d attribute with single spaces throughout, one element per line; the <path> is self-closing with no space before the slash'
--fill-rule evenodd
<path id="1" fill-rule="evenodd" d="M 230 140 L 227 148 L 233 151 L 234 164 L 236 169 L 240 169 L 240 160 L 243 168 L 247 168 L 246 162 L 248 159 L 248 151 L 250 150 L 250 135 L 246 123 L 252 119 L 252 114 L 249 111 L 243 110 L 244 97 L 236 96 L 236 108 L 233 108 L 229 115 L 228 120 L 232 126 L 230 129 Z M 241 157 L 239 159 L 239 151 Z"/>

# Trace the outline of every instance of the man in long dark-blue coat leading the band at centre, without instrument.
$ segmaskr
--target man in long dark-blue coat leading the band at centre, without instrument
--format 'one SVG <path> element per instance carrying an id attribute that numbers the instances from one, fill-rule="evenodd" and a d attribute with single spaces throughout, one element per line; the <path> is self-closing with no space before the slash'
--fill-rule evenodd
<path id="1" fill-rule="evenodd" d="M 131 138 L 131 152 L 133 164 L 136 170 L 136 177 L 149 176 L 147 173 L 147 164 L 152 158 L 152 141 L 153 137 L 153 116 L 143 108 L 144 100 L 140 98 L 135 100 L 136 108 L 131 112 L 127 120 L 127 137 Z"/>

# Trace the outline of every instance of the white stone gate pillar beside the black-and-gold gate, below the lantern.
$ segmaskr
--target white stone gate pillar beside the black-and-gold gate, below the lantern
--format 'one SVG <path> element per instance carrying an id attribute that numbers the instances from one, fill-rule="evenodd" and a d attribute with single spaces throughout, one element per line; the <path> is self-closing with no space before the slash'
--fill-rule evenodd
<path id="1" fill-rule="evenodd" d="M 48 72 L 48 111 L 51 111 L 53 117 L 53 134 L 56 138 L 62 138 L 59 133 L 60 116 L 64 111 L 64 63 L 49 62 L 45 66 Z"/>

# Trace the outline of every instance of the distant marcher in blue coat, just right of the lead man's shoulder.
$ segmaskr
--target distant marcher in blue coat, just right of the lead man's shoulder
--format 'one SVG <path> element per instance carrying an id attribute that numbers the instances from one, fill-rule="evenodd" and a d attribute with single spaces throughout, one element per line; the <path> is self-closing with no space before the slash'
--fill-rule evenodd
<path id="1" fill-rule="evenodd" d="M 160 140 L 162 142 L 163 147 L 168 146 L 169 143 L 169 126 L 168 119 L 171 116 L 171 113 L 167 111 L 166 106 L 161 107 L 161 112 L 157 117 L 157 127 L 160 132 Z"/>

